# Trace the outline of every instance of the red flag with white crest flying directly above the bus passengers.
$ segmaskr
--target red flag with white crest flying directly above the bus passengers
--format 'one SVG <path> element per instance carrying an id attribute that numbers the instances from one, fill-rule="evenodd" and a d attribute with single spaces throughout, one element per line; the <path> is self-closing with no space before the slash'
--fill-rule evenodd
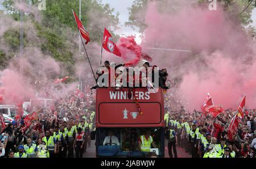
<path id="1" fill-rule="evenodd" d="M 102 47 L 108 52 L 121 57 L 120 50 L 118 49 L 117 45 L 115 45 L 115 43 L 113 42 L 113 38 L 106 28 L 104 30 Z"/>

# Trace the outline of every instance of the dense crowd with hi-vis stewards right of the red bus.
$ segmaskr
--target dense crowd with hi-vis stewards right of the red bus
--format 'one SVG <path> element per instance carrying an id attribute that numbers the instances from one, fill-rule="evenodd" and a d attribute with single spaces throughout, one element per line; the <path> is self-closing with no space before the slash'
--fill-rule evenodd
<path id="1" fill-rule="evenodd" d="M 184 147 L 193 158 L 233 157 L 255 158 L 256 155 L 256 109 L 245 110 L 246 115 L 238 125 L 232 140 L 228 137 L 228 128 L 232 117 L 237 113 L 232 109 L 214 118 L 202 112 L 188 113 L 183 106 L 168 111 L 164 120 L 166 129 L 174 129 L 177 145 Z M 169 152 L 172 157 L 172 151 Z M 177 157 L 176 147 L 174 154 Z"/>

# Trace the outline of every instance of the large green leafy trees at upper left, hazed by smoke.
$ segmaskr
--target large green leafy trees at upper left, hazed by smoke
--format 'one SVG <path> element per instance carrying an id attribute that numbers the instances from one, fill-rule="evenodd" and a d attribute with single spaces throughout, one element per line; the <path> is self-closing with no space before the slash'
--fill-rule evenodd
<path id="1" fill-rule="evenodd" d="M 15 9 L 16 0 L 3 0 L 2 6 L 5 11 L 5 15 L 11 15 L 14 20 L 20 19 L 20 11 Z M 37 7 L 38 1 L 27 0 L 28 8 Z M 91 41 L 101 44 L 101 37 L 103 35 L 104 27 L 115 29 L 118 25 L 118 14 L 114 15 L 114 9 L 110 8 L 108 4 L 104 5 L 101 1 L 97 0 L 83 0 L 81 1 L 81 21 L 84 24 L 86 30 L 90 33 Z M 74 54 L 77 52 L 77 45 L 74 37 L 78 38 L 78 32 L 76 23 L 73 19 L 72 9 L 78 14 L 79 12 L 79 0 L 58 0 L 47 1 L 46 9 L 38 12 L 42 21 L 38 21 L 35 18 L 33 12 L 26 12 L 24 15 L 24 41 L 25 47 L 39 47 L 43 53 L 48 54 L 55 58 L 56 61 L 64 63 L 68 69 L 68 73 L 74 73 L 73 65 L 75 65 L 76 57 Z M 31 24 L 28 28 L 27 24 Z M 10 28 L 14 29 L 14 28 Z M 8 30 L 4 34 L 5 45 L 13 49 L 16 53 L 19 52 L 19 28 L 15 28 L 15 37 L 10 36 L 11 31 Z M 38 43 L 35 43 L 33 39 L 27 39 L 26 34 L 35 32 L 35 38 L 39 39 Z M 1 39 L 1 37 L 0 37 Z M 1 47 L 0 47 L 1 49 Z M 5 56 L 9 56 L 9 53 L 4 53 Z M 13 57 L 15 53 L 10 53 Z M 2 57 L 2 54 L 1 54 Z M 9 57 L 7 57 L 9 58 Z M 65 67 L 64 67 L 65 68 Z"/>

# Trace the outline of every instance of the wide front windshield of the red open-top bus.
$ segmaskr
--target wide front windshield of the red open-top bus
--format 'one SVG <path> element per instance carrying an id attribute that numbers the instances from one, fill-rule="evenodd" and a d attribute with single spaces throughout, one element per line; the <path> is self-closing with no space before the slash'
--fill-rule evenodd
<path id="1" fill-rule="evenodd" d="M 153 142 L 150 149 L 141 151 L 141 136 L 150 131 Z M 111 136 L 111 141 L 110 141 Z M 149 137 L 147 139 L 150 139 Z M 97 155 L 100 157 L 147 157 L 147 154 L 164 154 L 163 128 L 98 128 Z"/>

